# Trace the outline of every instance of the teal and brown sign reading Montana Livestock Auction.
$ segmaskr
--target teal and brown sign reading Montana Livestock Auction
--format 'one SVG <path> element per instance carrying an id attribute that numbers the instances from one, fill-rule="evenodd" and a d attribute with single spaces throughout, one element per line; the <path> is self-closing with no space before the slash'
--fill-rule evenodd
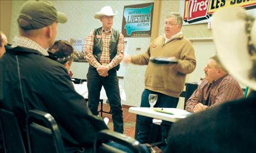
<path id="1" fill-rule="evenodd" d="M 127 5 L 123 9 L 124 37 L 151 36 L 154 3 Z"/>

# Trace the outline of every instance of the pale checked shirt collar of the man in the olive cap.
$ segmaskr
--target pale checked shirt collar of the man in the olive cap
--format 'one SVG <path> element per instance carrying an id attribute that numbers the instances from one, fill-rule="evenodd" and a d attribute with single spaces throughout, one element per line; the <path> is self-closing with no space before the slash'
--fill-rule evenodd
<path id="1" fill-rule="evenodd" d="M 39 44 L 37 44 L 37 42 L 34 42 L 33 40 L 28 39 L 24 36 L 20 36 L 20 35 L 15 36 L 13 40 L 13 45 L 11 45 L 11 47 L 17 47 L 17 46 L 37 50 L 44 56 L 49 56 L 45 48 L 41 47 Z"/>

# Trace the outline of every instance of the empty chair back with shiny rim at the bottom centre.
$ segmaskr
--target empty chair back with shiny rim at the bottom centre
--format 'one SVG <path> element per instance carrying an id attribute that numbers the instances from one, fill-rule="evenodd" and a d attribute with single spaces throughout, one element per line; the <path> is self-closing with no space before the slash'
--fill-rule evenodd
<path id="1" fill-rule="evenodd" d="M 110 130 L 102 130 L 97 133 L 96 138 L 94 139 L 93 144 L 93 153 L 104 152 L 104 153 L 123 153 L 123 150 L 114 148 L 109 145 L 108 142 L 115 142 L 126 146 L 134 153 L 144 153 L 145 151 L 142 149 L 142 146 L 138 142 L 131 137 L 128 137 L 124 134 L 117 133 L 115 131 Z"/>

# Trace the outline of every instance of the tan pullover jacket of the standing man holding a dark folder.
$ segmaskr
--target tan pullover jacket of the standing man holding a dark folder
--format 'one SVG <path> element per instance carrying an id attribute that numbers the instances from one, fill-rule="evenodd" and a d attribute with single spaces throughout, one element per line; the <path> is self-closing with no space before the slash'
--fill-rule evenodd
<path id="1" fill-rule="evenodd" d="M 164 44 L 164 36 L 154 39 L 147 51 L 132 57 L 132 63 L 148 65 L 145 72 L 145 89 L 179 97 L 186 79 L 186 75 L 194 71 L 196 61 L 194 48 L 183 34 Z M 158 65 L 150 62 L 150 57 L 176 57 L 178 64 L 174 68 L 170 65 Z"/>

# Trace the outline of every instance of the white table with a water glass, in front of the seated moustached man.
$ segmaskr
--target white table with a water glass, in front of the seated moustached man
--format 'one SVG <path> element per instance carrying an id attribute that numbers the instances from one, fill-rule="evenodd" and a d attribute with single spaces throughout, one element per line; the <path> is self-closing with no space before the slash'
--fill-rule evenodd
<path id="1" fill-rule="evenodd" d="M 171 109 L 174 109 L 174 111 L 176 112 L 182 112 L 182 113 L 184 111 L 183 109 L 177 109 L 177 108 L 171 108 Z M 176 122 L 180 119 L 184 119 L 187 117 L 187 115 L 171 115 L 171 114 L 156 112 L 153 109 L 150 109 L 148 107 L 130 107 L 129 113 L 138 114 L 138 115 L 155 118 L 155 119 L 166 120 L 170 122 Z"/>

